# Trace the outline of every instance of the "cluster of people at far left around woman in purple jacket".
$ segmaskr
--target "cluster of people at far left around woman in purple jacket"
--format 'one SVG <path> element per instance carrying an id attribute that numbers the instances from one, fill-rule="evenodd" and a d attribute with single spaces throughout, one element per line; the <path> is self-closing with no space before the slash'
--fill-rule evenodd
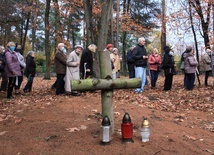
<path id="1" fill-rule="evenodd" d="M 23 76 L 28 80 L 23 88 L 23 92 L 31 92 L 33 79 L 36 74 L 36 63 L 34 61 L 34 51 L 29 51 L 25 59 L 21 53 L 21 45 L 9 42 L 4 48 L 0 46 L 0 73 L 1 91 L 7 91 L 7 99 L 13 99 L 15 95 L 21 94 L 21 84 Z"/>

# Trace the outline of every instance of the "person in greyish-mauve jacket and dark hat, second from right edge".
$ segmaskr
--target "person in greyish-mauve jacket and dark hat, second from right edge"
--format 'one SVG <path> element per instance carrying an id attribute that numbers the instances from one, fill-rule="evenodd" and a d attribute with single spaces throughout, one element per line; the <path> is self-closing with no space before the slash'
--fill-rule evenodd
<path id="1" fill-rule="evenodd" d="M 191 46 L 187 47 L 186 53 L 184 54 L 184 63 L 185 63 L 185 86 L 187 90 L 192 90 L 194 88 L 195 82 L 195 73 L 198 66 L 198 61 L 194 56 L 194 51 Z"/>

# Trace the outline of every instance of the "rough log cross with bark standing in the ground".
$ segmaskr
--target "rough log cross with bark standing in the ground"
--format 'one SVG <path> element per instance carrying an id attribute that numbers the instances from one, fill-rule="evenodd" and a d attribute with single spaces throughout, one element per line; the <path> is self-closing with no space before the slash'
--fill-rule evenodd
<path id="1" fill-rule="evenodd" d="M 102 116 L 108 116 L 111 121 L 112 134 L 114 133 L 113 90 L 139 88 L 140 78 L 112 79 L 110 54 L 100 52 L 101 79 L 72 80 L 71 88 L 74 91 L 101 90 Z"/>

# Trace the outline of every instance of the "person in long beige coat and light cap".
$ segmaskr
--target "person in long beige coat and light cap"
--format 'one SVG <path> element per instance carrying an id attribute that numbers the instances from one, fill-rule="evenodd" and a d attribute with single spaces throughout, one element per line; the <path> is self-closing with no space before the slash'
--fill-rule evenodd
<path id="1" fill-rule="evenodd" d="M 66 74 L 65 74 L 65 92 L 68 95 L 80 96 L 77 91 L 72 91 L 71 80 L 80 79 L 80 54 L 83 50 L 81 45 L 76 45 L 75 50 L 72 51 L 66 61 Z"/>

